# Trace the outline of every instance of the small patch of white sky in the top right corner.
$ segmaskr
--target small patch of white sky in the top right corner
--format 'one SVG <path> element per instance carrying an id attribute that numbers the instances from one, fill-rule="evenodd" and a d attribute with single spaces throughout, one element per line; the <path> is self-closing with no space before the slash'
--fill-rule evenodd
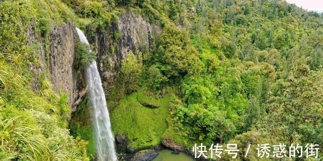
<path id="1" fill-rule="evenodd" d="M 322 0 L 285 0 L 290 4 L 295 4 L 298 7 L 302 7 L 307 10 L 321 11 L 323 10 Z"/>

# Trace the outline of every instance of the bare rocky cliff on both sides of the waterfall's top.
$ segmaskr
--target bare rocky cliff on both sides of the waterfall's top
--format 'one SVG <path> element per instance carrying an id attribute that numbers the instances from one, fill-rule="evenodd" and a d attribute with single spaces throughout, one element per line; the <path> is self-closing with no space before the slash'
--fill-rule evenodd
<path id="1" fill-rule="evenodd" d="M 95 48 L 97 64 L 105 91 L 112 85 L 121 61 L 130 51 L 136 56 L 139 51 L 148 51 L 152 45 L 154 35 L 160 34 L 160 28 L 151 25 L 142 16 L 133 12 L 126 12 L 119 17 L 119 22 L 112 24 L 105 30 L 100 30 L 88 37 L 90 44 Z M 37 34 L 33 27 L 27 32 L 29 45 L 35 42 L 44 44 L 45 41 Z M 38 45 L 39 58 L 42 67 L 32 67 L 31 70 L 39 72 L 48 69 L 49 78 L 54 90 L 59 93 L 67 93 L 68 103 L 72 110 L 86 94 L 87 88 L 82 71 L 76 70 L 75 62 L 76 42 L 78 36 L 73 24 L 54 26 L 48 36 L 48 54 L 45 47 Z M 32 85 L 35 91 L 39 91 L 39 75 L 34 75 L 35 82 Z"/>

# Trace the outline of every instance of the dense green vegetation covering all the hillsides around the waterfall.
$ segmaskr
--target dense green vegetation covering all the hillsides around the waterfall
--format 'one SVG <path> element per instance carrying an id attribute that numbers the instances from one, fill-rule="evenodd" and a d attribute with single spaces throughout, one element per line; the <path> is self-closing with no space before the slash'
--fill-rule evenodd
<path id="1" fill-rule="evenodd" d="M 117 42 L 114 26 L 129 11 L 160 33 L 120 60 L 104 85 L 113 132 L 128 147 L 234 143 L 236 160 L 323 158 L 323 15 L 281 0 L 18 0 L 0 1 L 0 160 L 95 158 L 87 98 L 72 113 L 39 46 L 48 62 L 50 32 L 64 23 Z M 111 44 L 107 55 L 117 50 Z M 103 61 L 84 56 L 79 43 L 77 50 L 78 72 Z M 261 158 L 257 144 L 265 143 L 284 143 L 286 154 L 292 144 L 318 144 L 318 158 L 278 158 L 273 150 Z"/>

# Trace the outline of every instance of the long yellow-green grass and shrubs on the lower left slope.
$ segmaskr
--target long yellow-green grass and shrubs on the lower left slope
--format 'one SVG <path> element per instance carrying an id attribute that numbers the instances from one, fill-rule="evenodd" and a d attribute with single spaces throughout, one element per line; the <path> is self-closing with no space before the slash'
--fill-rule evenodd
<path id="1" fill-rule="evenodd" d="M 70 114 L 66 97 L 53 93 L 44 82 L 37 96 L 17 68 L 1 61 L 5 70 L 0 73 L 0 159 L 87 160 L 85 143 L 66 129 Z"/>

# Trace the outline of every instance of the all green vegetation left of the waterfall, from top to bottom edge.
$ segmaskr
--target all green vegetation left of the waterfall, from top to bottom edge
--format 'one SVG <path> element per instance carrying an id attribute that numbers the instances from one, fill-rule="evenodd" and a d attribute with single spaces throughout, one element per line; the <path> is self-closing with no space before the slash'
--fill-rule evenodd
<path id="1" fill-rule="evenodd" d="M 69 135 L 67 95 L 53 91 L 45 72 L 31 76 L 40 60 L 26 38 L 27 29 L 46 38 L 73 13 L 59 1 L 21 0 L 1 2 L 0 17 L 0 160 L 89 160 L 87 143 Z"/>

